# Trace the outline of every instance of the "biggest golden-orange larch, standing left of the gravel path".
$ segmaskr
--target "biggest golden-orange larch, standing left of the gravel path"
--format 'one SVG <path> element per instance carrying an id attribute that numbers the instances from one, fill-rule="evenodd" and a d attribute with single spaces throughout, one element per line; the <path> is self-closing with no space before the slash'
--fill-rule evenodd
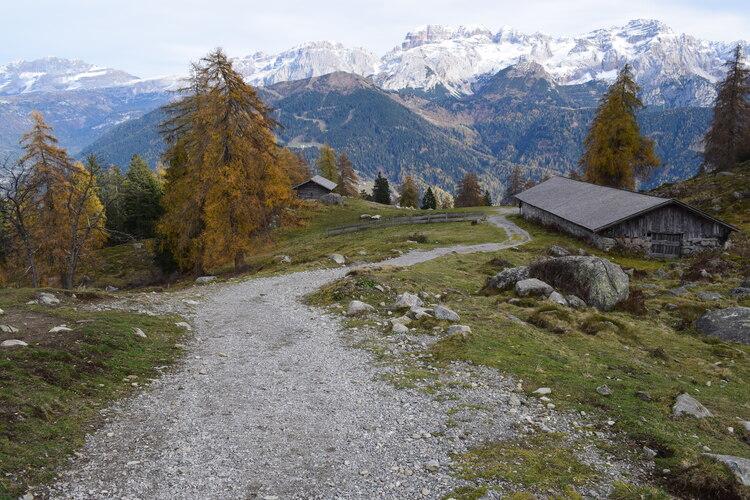
<path id="1" fill-rule="evenodd" d="M 169 163 L 157 226 L 178 263 L 203 269 L 245 255 L 291 202 L 271 109 L 221 49 L 193 65 L 184 97 L 165 107 Z"/>

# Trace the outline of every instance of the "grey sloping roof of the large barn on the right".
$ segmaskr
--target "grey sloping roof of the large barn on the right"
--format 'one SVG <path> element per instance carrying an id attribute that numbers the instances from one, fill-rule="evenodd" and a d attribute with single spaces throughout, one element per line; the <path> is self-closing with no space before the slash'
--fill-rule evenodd
<path id="1" fill-rule="evenodd" d="M 732 231 L 738 231 L 731 224 L 678 200 L 599 186 L 567 177 L 552 177 L 518 193 L 516 198 L 595 233 L 669 204 L 680 205 Z"/>

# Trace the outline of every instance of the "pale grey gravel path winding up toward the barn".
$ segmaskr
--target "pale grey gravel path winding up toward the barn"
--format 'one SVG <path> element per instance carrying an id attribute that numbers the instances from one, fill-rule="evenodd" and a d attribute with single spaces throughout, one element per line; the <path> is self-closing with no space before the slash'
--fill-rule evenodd
<path id="1" fill-rule="evenodd" d="M 520 236 L 505 245 L 411 252 L 387 263 L 411 265 L 528 239 L 500 214 L 491 221 Z M 465 484 L 449 474 L 451 453 L 523 433 L 582 436 L 579 422 L 536 399 L 526 401 L 517 380 L 486 368 L 457 364 L 436 371 L 446 387 L 465 387 L 450 398 L 384 381 L 398 368 L 374 363 L 351 344 L 374 339 L 395 357 L 420 363 L 423 338 L 345 330 L 339 316 L 300 301 L 347 270 L 202 287 L 183 360 L 150 390 L 107 410 L 105 425 L 58 481 L 33 493 L 76 499 L 441 498 Z M 183 304 L 172 300 L 174 307 Z M 632 473 L 622 464 L 605 467 L 593 446 L 580 453 L 606 469 L 602 485 Z M 581 492 L 598 497 L 602 485 Z"/>

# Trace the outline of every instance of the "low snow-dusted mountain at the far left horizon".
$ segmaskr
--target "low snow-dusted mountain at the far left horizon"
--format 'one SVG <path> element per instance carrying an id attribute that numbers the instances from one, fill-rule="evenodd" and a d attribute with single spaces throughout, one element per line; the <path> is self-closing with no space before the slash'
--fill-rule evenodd
<path id="1" fill-rule="evenodd" d="M 45 57 L 0 66 L 0 95 L 63 90 L 90 90 L 137 82 L 124 71 L 76 59 Z"/>

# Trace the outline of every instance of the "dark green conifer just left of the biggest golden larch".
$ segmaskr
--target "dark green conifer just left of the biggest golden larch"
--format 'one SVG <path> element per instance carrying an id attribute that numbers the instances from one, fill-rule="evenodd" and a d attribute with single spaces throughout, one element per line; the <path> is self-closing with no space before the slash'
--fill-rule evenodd
<path id="1" fill-rule="evenodd" d="M 123 185 L 122 207 L 125 231 L 136 239 L 153 238 L 154 226 L 162 216 L 162 185 L 138 155 L 130 159 Z"/>

